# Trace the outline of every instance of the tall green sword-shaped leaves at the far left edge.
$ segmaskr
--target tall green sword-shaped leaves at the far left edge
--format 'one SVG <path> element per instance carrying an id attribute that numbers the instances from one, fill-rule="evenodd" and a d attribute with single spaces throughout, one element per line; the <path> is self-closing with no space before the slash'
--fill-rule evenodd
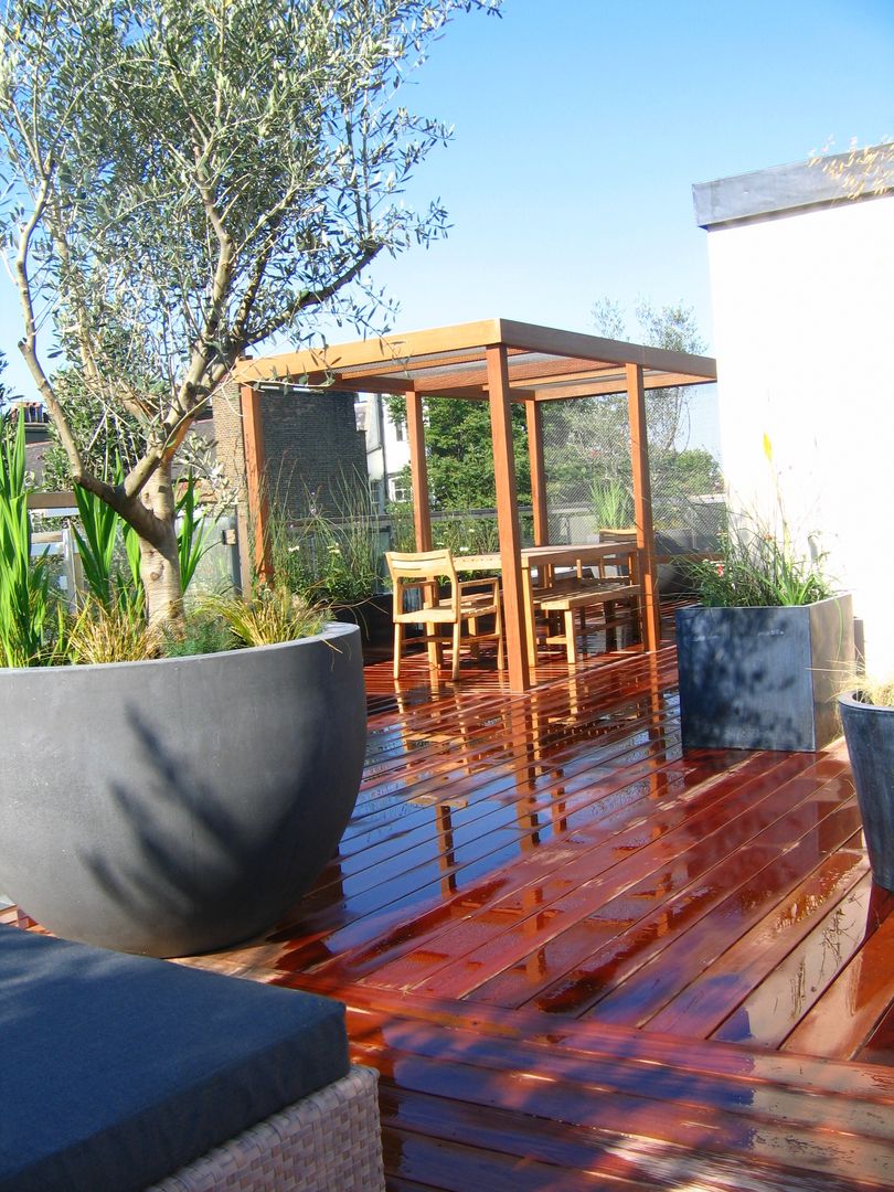
<path id="1" fill-rule="evenodd" d="M 51 607 L 45 559 L 31 557 L 25 485 L 25 420 L 0 424 L 0 663 L 37 666 Z"/>

